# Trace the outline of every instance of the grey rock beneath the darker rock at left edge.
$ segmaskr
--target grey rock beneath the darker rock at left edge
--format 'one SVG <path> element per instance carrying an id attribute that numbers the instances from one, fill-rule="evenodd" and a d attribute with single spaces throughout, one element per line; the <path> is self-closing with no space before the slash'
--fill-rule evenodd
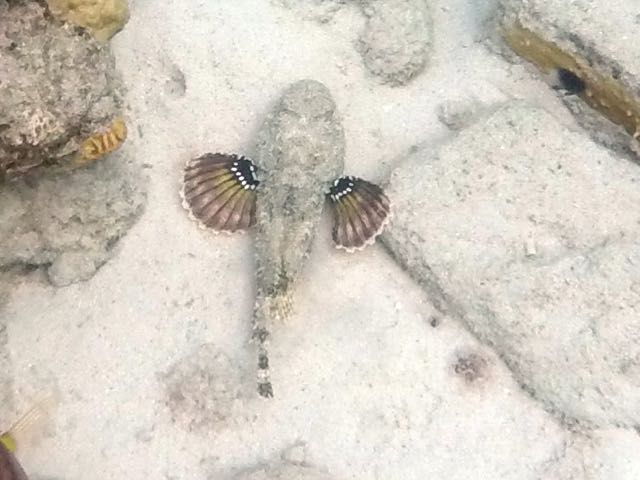
<path id="1" fill-rule="evenodd" d="M 0 269 L 45 267 L 53 285 L 87 280 L 143 210 L 126 149 L 90 168 L 27 176 L 0 188 Z"/>

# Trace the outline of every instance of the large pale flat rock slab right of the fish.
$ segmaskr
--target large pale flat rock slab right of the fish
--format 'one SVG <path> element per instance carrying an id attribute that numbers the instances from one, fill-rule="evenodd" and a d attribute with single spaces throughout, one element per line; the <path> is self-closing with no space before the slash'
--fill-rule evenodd
<path id="1" fill-rule="evenodd" d="M 510 105 L 391 177 L 383 242 L 547 408 L 640 420 L 640 172 Z"/>

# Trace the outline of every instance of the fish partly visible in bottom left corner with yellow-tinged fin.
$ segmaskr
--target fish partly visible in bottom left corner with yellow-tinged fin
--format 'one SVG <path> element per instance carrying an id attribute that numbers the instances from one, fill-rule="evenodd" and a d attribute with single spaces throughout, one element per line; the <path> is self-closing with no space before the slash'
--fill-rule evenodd
<path id="1" fill-rule="evenodd" d="M 8 430 L 0 433 L 0 480 L 28 480 L 27 474 L 15 456 L 16 450 L 27 443 L 50 417 L 56 398 L 48 394 L 31 407 Z"/>

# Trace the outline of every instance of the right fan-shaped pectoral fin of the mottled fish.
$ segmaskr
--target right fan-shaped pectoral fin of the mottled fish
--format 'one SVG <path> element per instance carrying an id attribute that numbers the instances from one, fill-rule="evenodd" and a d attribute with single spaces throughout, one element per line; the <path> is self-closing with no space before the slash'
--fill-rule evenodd
<path id="1" fill-rule="evenodd" d="M 372 244 L 389 221 L 391 205 L 382 189 L 357 177 L 341 177 L 327 194 L 333 210 L 333 241 L 348 252 Z"/>

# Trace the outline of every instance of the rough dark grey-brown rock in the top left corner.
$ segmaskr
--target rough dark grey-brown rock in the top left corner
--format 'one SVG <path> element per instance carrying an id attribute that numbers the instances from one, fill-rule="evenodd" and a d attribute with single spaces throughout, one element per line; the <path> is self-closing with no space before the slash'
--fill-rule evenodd
<path id="1" fill-rule="evenodd" d="M 38 2 L 0 12 L 0 72 L 0 181 L 59 162 L 121 116 L 108 47 L 52 20 Z"/>

